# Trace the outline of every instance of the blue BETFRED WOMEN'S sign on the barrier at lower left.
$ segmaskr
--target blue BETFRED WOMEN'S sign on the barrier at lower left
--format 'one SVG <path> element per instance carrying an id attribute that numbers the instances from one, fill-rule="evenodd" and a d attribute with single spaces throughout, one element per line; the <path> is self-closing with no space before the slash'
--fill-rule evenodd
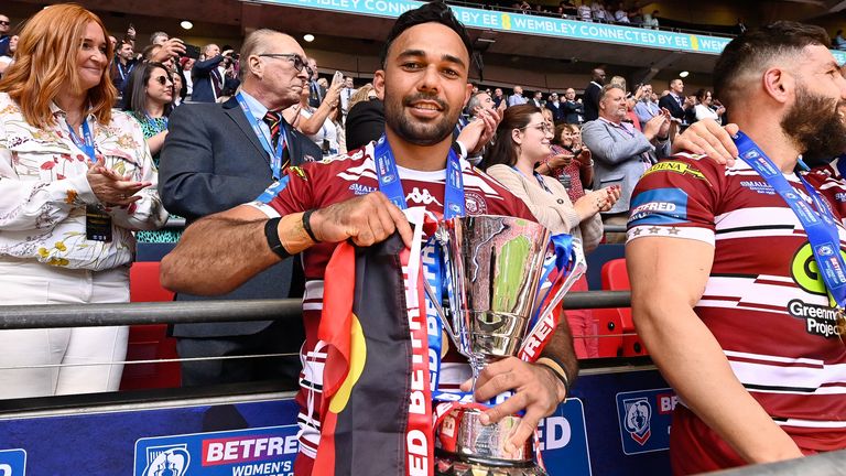
<path id="1" fill-rule="evenodd" d="M 296 432 L 285 425 L 141 439 L 134 476 L 288 476 Z"/>

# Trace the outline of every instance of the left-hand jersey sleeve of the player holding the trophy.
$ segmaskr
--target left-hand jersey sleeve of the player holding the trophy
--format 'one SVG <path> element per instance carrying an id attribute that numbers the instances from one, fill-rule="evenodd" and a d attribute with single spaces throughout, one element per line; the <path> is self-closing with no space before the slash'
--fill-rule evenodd
<path id="1" fill-rule="evenodd" d="M 249 205 L 270 218 L 315 208 L 314 182 L 317 180 L 314 164 L 290 166 L 285 175 L 271 184 Z"/>

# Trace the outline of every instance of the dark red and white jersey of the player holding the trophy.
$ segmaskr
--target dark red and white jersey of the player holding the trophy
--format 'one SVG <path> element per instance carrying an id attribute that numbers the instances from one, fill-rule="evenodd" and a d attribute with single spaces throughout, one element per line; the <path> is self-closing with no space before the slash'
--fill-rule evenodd
<path id="1" fill-rule="evenodd" d="M 370 143 L 344 158 L 290 167 L 285 188 L 269 203 L 253 202 L 251 205 L 269 217 L 275 217 L 323 208 L 376 192 L 379 184 L 372 156 L 373 143 Z M 462 160 L 460 164 L 467 215 L 508 215 L 535 220 L 520 198 L 467 161 Z M 425 206 L 435 219 L 442 217 L 446 171 L 421 172 L 401 166 L 398 166 L 398 171 L 408 206 Z M 323 311 L 324 270 L 335 247 L 336 244 L 318 244 L 302 255 L 306 279 L 303 298 L 305 344 L 300 353 L 303 371 L 296 400 L 300 404 L 300 452 L 310 458 L 315 457 L 321 437 L 319 409 L 326 353 L 325 345 L 317 339 L 317 327 Z M 455 353 L 445 360 L 441 388 L 457 389 L 460 382 L 470 377 L 469 367 Z"/>

